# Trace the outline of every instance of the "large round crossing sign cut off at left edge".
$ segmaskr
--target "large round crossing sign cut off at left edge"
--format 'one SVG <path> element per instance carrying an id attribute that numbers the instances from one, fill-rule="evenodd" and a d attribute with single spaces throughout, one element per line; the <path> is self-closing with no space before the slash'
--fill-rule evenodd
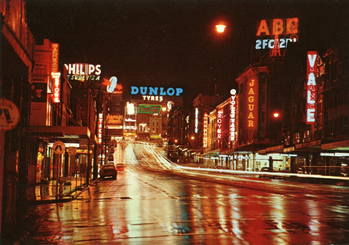
<path id="1" fill-rule="evenodd" d="M 8 99 L 0 99 L 0 130 L 7 131 L 17 126 L 20 111 L 15 103 Z"/>

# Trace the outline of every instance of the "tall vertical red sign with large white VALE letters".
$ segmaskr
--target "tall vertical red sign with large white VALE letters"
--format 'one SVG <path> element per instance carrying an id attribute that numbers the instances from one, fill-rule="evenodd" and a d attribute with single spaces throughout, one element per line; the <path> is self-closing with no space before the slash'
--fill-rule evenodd
<path id="1" fill-rule="evenodd" d="M 316 115 L 316 74 L 318 53 L 308 51 L 306 68 L 306 124 L 315 124 Z"/>

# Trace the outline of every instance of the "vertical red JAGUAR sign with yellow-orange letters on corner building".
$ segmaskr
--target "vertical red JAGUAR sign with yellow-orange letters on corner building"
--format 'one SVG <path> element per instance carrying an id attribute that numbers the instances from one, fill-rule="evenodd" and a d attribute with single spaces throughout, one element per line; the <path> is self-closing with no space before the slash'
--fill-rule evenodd
<path id="1" fill-rule="evenodd" d="M 257 129 L 258 124 L 258 80 L 251 77 L 247 82 L 247 128 Z"/>

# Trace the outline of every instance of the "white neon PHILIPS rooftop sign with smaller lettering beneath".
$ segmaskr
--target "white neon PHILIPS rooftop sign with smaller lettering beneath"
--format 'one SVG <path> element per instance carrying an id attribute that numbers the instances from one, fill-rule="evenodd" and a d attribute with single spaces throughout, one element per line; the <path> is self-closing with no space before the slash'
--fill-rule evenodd
<path id="1" fill-rule="evenodd" d="M 99 81 L 101 76 L 101 65 L 91 65 L 91 64 L 64 64 L 68 71 L 68 80 L 96 80 Z"/>

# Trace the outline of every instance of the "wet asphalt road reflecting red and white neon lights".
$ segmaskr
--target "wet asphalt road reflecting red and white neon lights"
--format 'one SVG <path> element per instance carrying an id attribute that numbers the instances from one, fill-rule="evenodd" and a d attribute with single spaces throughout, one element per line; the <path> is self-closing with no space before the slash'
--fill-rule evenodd
<path id="1" fill-rule="evenodd" d="M 240 177 L 226 185 L 149 171 L 142 166 L 156 168 L 161 157 L 137 143 L 119 144 L 114 158 L 127 164 L 117 180 L 36 206 L 18 244 L 349 243 L 348 187 Z"/>

